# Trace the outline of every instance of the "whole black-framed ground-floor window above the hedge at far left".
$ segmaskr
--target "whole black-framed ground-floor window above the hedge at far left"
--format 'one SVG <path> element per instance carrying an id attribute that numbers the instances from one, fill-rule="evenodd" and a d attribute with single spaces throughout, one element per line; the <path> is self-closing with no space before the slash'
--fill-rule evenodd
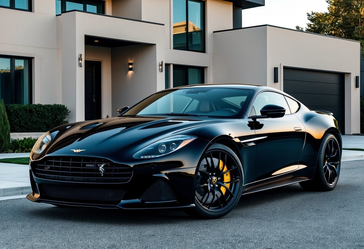
<path id="1" fill-rule="evenodd" d="M 0 55 L 0 99 L 5 104 L 32 102 L 31 62 L 31 58 Z"/>

